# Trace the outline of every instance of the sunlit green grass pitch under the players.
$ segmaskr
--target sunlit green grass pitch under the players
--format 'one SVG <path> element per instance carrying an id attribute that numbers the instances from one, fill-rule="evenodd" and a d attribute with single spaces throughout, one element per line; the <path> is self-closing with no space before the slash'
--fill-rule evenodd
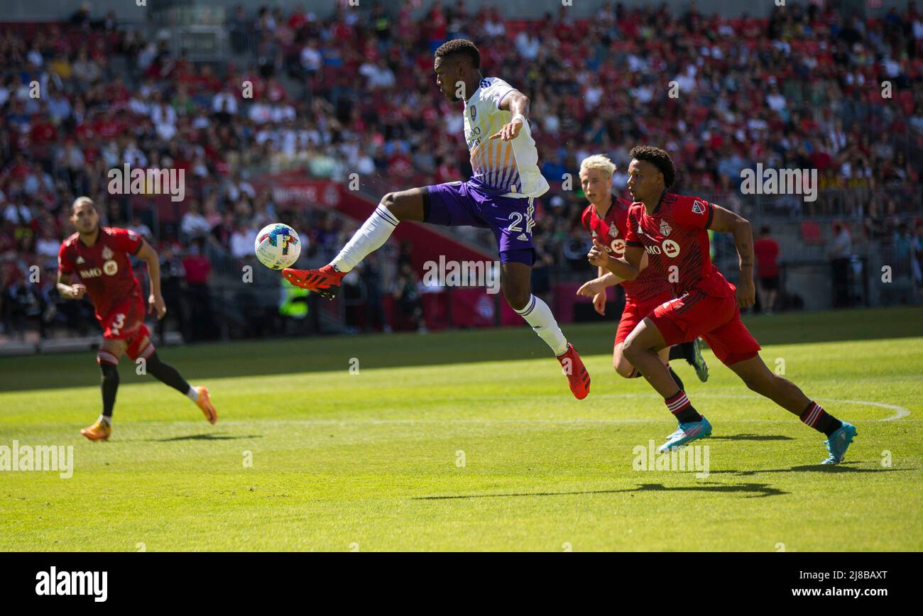
<path id="1" fill-rule="evenodd" d="M 70 479 L 0 472 L 0 550 L 923 550 L 923 310 L 748 323 L 767 364 L 857 425 L 844 464 L 816 466 L 822 436 L 707 352 L 707 384 L 677 373 L 714 426 L 708 477 L 635 470 L 675 424 L 617 378 L 609 323 L 565 328 L 593 374 L 582 402 L 526 327 L 161 349 L 218 425 L 123 360 L 107 443 L 78 434 L 99 413 L 92 353 L 0 359 L 0 445 L 75 460 Z"/>

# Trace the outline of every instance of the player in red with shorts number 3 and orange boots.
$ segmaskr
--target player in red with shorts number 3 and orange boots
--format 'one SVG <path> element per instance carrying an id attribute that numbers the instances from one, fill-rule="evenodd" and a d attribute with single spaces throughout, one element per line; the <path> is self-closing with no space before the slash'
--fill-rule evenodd
<path id="1" fill-rule="evenodd" d="M 77 232 L 61 243 L 58 252 L 57 288 L 63 297 L 79 300 L 87 294 L 102 326 L 102 347 L 96 361 L 102 371 L 102 415 L 89 428 L 80 431 L 90 441 L 106 440 L 112 433 L 115 392 L 118 390 L 118 365 L 122 355 L 131 360 L 144 358 L 146 370 L 198 405 L 205 418 L 214 423 L 218 412 L 206 387 L 193 387 L 170 364 L 161 361 L 144 325 L 145 306 L 141 285 L 132 273 L 128 255 L 148 263 L 150 273 L 150 312 L 162 318 L 167 309 L 161 296 L 161 269 L 157 253 L 144 238 L 126 229 L 100 227 L 100 216 L 89 197 L 81 196 L 71 206 L 70 221 Z M 70 284 L 77 275 L 79 282 Z"/>

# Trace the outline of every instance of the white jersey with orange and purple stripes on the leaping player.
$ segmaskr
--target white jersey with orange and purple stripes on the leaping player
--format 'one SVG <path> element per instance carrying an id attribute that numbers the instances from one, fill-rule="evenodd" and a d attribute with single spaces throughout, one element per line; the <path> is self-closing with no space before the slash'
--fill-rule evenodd
<path id="1" fill-rule="evenodd" d="M 485 77 L 464 103 L 464 136 L 471 152 L 472 177 L 488 188 L 504 191 L 504 196 L 538 197 L 545 195 L 548 182 L 538 171 L 538 151 L 529 123 L 510 141 L 489 138 L 512 118 L 512 113 L 499 109 L 500 101 L 512 90 L 503 79 Z"/>

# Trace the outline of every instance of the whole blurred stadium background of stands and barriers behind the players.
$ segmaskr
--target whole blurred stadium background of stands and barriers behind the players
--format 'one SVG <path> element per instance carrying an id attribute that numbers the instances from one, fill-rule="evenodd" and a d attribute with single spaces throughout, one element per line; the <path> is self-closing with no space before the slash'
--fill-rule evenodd
<path id="1" fill-rule="evenodd" d="M 99 338 L 91 304 L 54 288 L 77 195 L 160 252 L 161 344 L 520 326 L 502 294 L 421 279 L 440 255 L 496 259 L 489 231 L 402 224 L 335 302 L 284 285 L 253 256 L 257 231 L 278 220 L 301 234 L 298 267 L 324 265 L 385 193 L 470 176 L 462 106 L 442 98 L 432 71 L 452 38 L 477 43 L 483 73 L 532 99 L 552 186 L 537 208 L 533 287 L 558 321 L 602 318 L 574 295 L 594 277 L 580 161 L 608 154 L 613 191 L 627 196 L 637 144 L 670 151 L 677 192 L 750 220 L 757 312 L 920 301 L 914 2 L 573 4 L 6 0 L 0 352 Z M 111 194 L 107 172 L 125 164 L 185 170 L 186 198 Z M 758 164 L 817 170 L 818 198 L 743 194 L 741 170 Z M 736 281 L 730 236 L 713 236 L 713 259 Z M 148 284 L 143 264 L 136 275 Z M 605 319 L 616 321 L 612 291 Z"/>

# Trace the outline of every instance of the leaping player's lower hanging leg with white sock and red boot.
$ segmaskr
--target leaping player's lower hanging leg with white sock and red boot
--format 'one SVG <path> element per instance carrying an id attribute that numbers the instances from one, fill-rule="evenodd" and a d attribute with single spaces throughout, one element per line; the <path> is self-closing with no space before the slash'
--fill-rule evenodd
<path id="1" fill-rule="evenodd" d="M 533 331 L 545 344 L 554 351 L 557 361 L 568 377 L 570 392 L 578 400 L 582 400 L 590 393 L 590 373 L 577 349 L 569 344 L 567 338 L 557 326 L 555 315 L 551 314 L 548 304 L 532 294 L 532 266 L 533 251 L 512 250 L 500 252 L 502 264 L 500 284 L 509 306 L 520 314 L 525 322 L 532 326 Z M 523 261 L 528 260 L 529 263 Z"/>

